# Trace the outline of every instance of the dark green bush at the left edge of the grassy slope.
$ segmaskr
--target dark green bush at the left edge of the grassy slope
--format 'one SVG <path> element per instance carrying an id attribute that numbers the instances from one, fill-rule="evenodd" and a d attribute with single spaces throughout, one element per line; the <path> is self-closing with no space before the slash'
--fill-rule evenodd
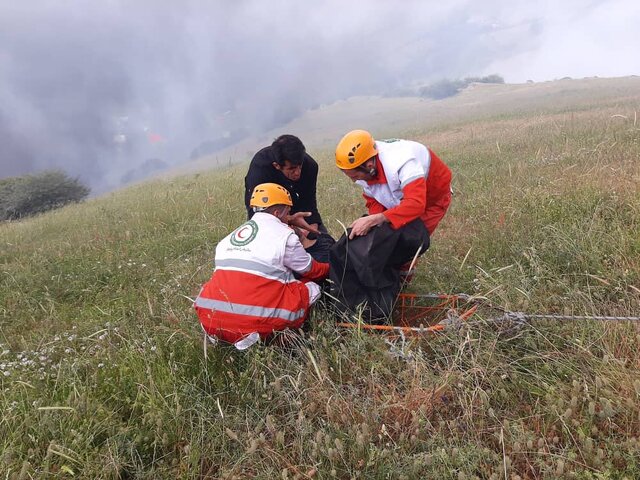
<path id="1" fill-rule="evenodd" d="M 53 210 L 89 195 L 89 187 L 60 170 L 0 180 L 0 221 Z"/>

